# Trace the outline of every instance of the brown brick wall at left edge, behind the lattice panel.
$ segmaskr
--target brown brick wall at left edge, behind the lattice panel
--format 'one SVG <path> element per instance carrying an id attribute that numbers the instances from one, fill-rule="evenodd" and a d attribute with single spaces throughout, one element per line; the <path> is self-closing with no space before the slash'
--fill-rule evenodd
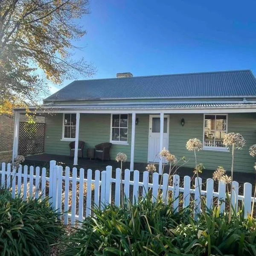
<path id="1" fill-rule="evenodd" d="M 0 152 L 12 151 L 14 116 L 0 115 Z M 20 115 L 20 122 L 26 122 L 27 117 Z M 35 122 L 45 122 L 44 116 L 37 116 Z"/>

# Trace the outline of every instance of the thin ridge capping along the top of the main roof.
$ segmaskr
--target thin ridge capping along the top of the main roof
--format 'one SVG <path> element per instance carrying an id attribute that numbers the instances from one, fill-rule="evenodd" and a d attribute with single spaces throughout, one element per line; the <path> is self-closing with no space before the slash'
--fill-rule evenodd
<path id="1" fill-rule="evenodd" d="M 98 79 L 79 79 L 74 81 L 99 81 L 99 80 L 111 80 L 111 79 L 133 79 L 133 78 L 145 78 L 156 76 L 184 76 L 184 75 L 198 75 L 198 74 L 212 74 L 212 73 L 232 73 L 232 72 L 251 72 L 250 69 L 245 70 L 222 70 L 222 71 L 209 71 L 209 72 L 191 72 L 191 73 L 175 73 L 175 74 L 163 74 L 163 75 L 149 75 L 149 76 L 132 76 L 132 77 L 111 77 L 111 78 L 98 78 Z M 74 82 L 73 81 L 73 82 Z M 69 85 L 69 84 L 67 84 Z"/>

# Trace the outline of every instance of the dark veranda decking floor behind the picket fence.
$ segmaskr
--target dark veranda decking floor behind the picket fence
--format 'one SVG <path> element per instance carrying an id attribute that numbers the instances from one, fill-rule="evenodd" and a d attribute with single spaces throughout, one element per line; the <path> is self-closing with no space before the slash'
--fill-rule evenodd
<path id="1" fill-rule="evenodd" d="M 73 158 L 70 158 L 69 156 L 61 156 L 61 155 L 55 155 L 55 154 L 37 154 L 37 155 L 30 155 L 25 157 L 25 164 L 32 165 L 32 166 L 41 166 L 41 167 L 47 167 L 49 166 L 50 160 L 55 160 L 59 165 L 66 167 L 73 167 Z M 90 160 L 86 157 L 79 158 L 78 160 L 78 166 L 79 168 L 84 168 L 85 171 L 87 169 L 92 169 L 93 173 L 95 170 L 104 171 L 106 169 L 106 166 L 112 166 L 113 168 L 113 176 L 114 171 L 116 168 L 120 168 L 120 163 L 117 163 L 115 160 L 109 160 L 109 161 L 102 161 L 102 160 Z M 140 171 L 140 180 L 142 180 L 142 173 L 145 171 L 145 167 L 147 166 L 147 163 L 134 163 L 134 170 Z M 156 165 L 156 167 L 158 167 Z M 124 169 L 130 169 L 130 162 L 123 163 L 123 170 Z M 165 173 L 169 172 L 169 167 L 166 166 L 164 169 Z M 202 177 L 203 180 L 207 178 L 212 178 L 212 172 L 213 170 L 204 170 L 203 173 L 200 174 L 200 177 Z M 186 175 L 192 177 L 193 176 L 193 169 L 189 167 L 180 167 L 180 169 L 177 170 L 177 174 L 180 175 L 180 177 L 184 177 Z M 227 175 L 230 175 L 230 173 L 227 172 Z M 133 176 L 133 175 L 131 175 Z M 245 183 L 255 182 L 255 174 L 252 173 L 234 173 L 234 180 L 238 181 L 239 183 Z"/>

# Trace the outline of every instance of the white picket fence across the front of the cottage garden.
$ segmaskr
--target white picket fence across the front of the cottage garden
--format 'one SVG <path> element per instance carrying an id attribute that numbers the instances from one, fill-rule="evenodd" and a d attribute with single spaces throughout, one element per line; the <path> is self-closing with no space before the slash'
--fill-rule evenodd
<path id="1" fill-rule="evenodd" d="M 214 191 L 214 182 L 212 179 L 207 179 L 206 190 L 202 190 L 202 179 L 195 179 L 195 188 L 191 189 L 191 178 L 185 176 L 183 186 L 180 187 L 179 175 L 173 176 L 172 186 L 169 186 L 169 175 L 163 174 L 163 177 L 157 172 L 154 172 L 152 183 L 149 183 L 149 173 L 143 172 L 143 182 L 140 182 L 140 172 L 125 169 L 124 180 L 121 180 L 121 169 L 115 170 L 115 178 L 112 177 L 112 166 L 107 166 L 105 171 L 95 171 L 94 180 L 92 179 L 92 170 L 87 170 L 87 177 L 84 177 L 84 169 L 72 169 L 70 176 L 70 168 L 65 170 L 62 166 L 57 166 L 54 160 L 50 161 L 49 177 L 46 175 L 46 168 L 40 169 L 33 166 L 19 166 L 18 170 L 12 170 L 11 164 L 2 163 L 0 170 L 0 187 L 11 188 L 12 196 L 20 195 L 26 200 L 27 194 L 29 197 L 38 198 L 48 196 L 53 209 L 63 213 L 64 224 L 76 224 L 76 221 L 82 221 L 84 217 L 92 214 L 94 205 L 102 209 L 111 203 L 120 206 L 121 198 L 132 198 L 133 204 L 138 200 L 139 195 L 143 197 L 152 189 L 152 200 L 156 201 L 157 195 L 163 197 L 165 204 L 169 200 L 169 191 L 172 191 L 173 209 L 179 211 L 180 197 L 182 198 L 182 207 L 188 207 L 191 201 L 194 202 L 195 218 L 200 213 L 201 195 L 206 197 L 207 208 L 212 208 L 214 198 L 218 200 L 221 206 L 221 211 L 225 209 L 226 185 L 223 182 L 218 183 L 218 192 Z M 133 180 L 130 176 L 133 174 Z M 160 180 L 162 183 L 159 185 Z M 29 184 L 28 184 L 29 182 Z M 121 197 L 121 183 L 123 184 L 124 197 Z M 84 191 L 86 186 L 86 193 Z M 92 197 L 92 184 L 94 184 L 94 196 Z M 28 186 L 29 185 L 29 186 Z M 79 191 L 77 195 L 77 185 Z M 71 189 L 70 189 L 71 186 Z M 114 195 L 112 186 L 115 186 Z M 199 189 L 200 188 L 200 189 Z M 159 191 L 161 193 L 159 193 Z M 71 194 L 70 194 L 71 193 Z M 191 197 L 191 195 L 193 195 Z M 76 205 L 78 196 L 78 206 Z M 230 195 L 229 195 L 230 196 Z M 71 199 L 71 200 L 70 200 Z M 86 205 L 84 209 L 84 201 Z M 239 183 L 233 181 L 233 207 L 238 211 L 238 201 L 244 203 L 244 216 L 250 214 L 251 203 L 254 200 L 252 197 L 252 185 L 244 183 L 244 194 L 239 195 Z M 71 201 L 71 202 L 70 202 Z M 70 205 L 71 204 L 71 205 Z"/>

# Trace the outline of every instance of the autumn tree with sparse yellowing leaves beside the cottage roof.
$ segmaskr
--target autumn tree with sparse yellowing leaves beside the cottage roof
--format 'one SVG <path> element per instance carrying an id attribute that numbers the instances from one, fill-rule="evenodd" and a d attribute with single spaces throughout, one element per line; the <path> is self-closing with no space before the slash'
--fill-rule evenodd
<path id="1" fill-rule="evenodd" d="M 88 0 L 0 1 L 0 113 L 37 105 L 49 89 L 42 71 L 55 84 L 94 74 L 72 58 L 72 43 L 86 34 L 76 19 L 88 13 Z"/>

